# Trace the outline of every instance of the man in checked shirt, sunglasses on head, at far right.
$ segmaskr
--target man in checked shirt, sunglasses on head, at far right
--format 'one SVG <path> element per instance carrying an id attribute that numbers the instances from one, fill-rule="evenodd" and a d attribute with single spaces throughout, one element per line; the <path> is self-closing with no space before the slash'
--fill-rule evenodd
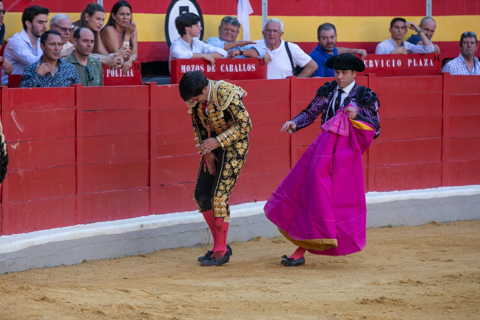
<path id="1" fill-rule="evenodd" d="M 442 72 L 450 72 L 453 75 L 480 75 L 480 62 L 475 57 L 479 47 L 477 35 L 471 31 L 460 36 L 460 54 L 455 59 L 448 61 L 442 68 Z"/>

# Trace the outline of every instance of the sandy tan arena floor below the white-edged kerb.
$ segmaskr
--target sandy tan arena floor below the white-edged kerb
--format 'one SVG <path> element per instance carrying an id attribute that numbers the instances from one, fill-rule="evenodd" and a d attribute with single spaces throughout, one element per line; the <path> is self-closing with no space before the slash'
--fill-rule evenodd
<path id="1" fill-rule="evenodd" d="M 480 319 L 480 220 L 369 229 L 345 257 L 282 267 L 283 238 L 0 275 L 0 319 Z M 209 248 L 208 248 L 209 249 Z"/>

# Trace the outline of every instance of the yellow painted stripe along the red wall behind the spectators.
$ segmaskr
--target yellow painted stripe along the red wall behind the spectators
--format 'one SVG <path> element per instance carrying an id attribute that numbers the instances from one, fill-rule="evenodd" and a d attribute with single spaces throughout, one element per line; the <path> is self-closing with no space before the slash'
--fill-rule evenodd
<path id="1" fill-rule="evenodd" d="M 56 13 L 50 13 L 52 17 Z M 66 13 L 72 21 L 80 17 L 80 13 Z M 164 42 L 165 14 L 134 13 L 133 18 L 137 24 L 138 39 L 141 42 Z M 218 25 L 223 15 L 204 15 L 204 40 L 210 36 L 218 36 Z M 8 12 L 5 15 L 5 38 L 22 30 L 22 13 Z M 108 18 L 108 14 L 106 15 Z M 271 17 L 269 17 L 271 18 Z M 392 17 L 317 17 L 317 16 L 276 16 L 284 23 L 283 39 L 292 42 L 317 42 L 317 28 L 320 24 L 329 22 L 335 24 L 338 41 L 341 42 L 381 42 L 390 37 L 388 28 Z M 420 16 L 405 17 L 417 24 Z M 437 29 L 433 41 L 458 41 L 465 31 L 480 32 L 480 15 L 438 16 L 433 17 L 437 22 Z M 107 21 L 107 19 L 106 19 Z M 250 16 L 250 33 L 252 40 L 262 38 L 262 17 Z M 413 31 L 409 31 L 408 36 Z M 239 39 L 242 34 L 240 31 Z"/>

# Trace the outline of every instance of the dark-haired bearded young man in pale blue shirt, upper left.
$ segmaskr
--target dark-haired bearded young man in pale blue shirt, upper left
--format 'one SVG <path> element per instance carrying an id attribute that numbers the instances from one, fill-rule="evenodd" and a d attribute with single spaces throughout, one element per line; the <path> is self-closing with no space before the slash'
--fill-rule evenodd
<path id="1" fill-rule="evenodd" d="M 48 9 L 40 6 L 25 8 L 22 14 L 24 29 L 14 34 L 3 51 L 4 59 L 12 64 L 12 74 L 22 74 L 24 68 L 40 59 L 40 36 L 47 30 Z M 8 76 L 2 70 L 1 83 L 8 83 Z"/>

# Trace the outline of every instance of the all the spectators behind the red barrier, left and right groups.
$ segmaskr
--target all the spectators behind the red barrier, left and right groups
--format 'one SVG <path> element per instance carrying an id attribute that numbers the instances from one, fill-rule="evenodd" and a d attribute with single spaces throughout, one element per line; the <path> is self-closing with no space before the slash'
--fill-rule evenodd
<path id="1" fill-rule="evenodd" d="M 0 45 L 3 44 L 5 9 L 0 0 Z M 22 75 L 23 87 L 103 85 L 102 65 L 121 69 L 126 74 L 138 56 L 138 34 L 132 19 L 132 6 L 128 1 L 117 1 L 104 26 L 105 9 L 98 3 L 86 5 L 80 19 L 72 23 L 66 14 L 48 19 L 49 10 L 38 5 L 27 7 L 22 14 L 23 30 L 8 39 L 3 56 L 1 84 L 8 85 L 10 74 Z M 333 77 L 334 71 L 325 61 L 336 54 L 357 54 L 363 60 L 367 52 L 361 48 L 336 47 L 337 31 L 334 24 L 318 27 L 318 45 L 305 53 L 297 44 L 284 41 L 283 22 L 268 19 L 262 29 L 263 39 L 237 40 L 240 22 L 234 16 L 224 17 L 218 26 L 218 36 L 205 42 L 198 39 L 201 18 L 185 12 L 175 19 L 180 37 L 170 46 L 171 59 L 205 59 L 211 64 L 220 58 L 263 58 L 267 64 L 267 79 L 281 79 L 296 75 L 307 77 Z M 49 29 L 47 31 L 47 24 Z M 408 29 L 415 31 L 404 41 Z M 379 43 L 375 54 L 440 53 L 432 43 L 436 29 L 431 17 L 420 24 L 394 18 L 390 23 L 391 37 Z M 44 36 L 45 35 L 45 36 Z M 60 37 L 60 40 L 59 40 Z M 475 33 L 465 32 L 460 37 L 460 54 L 447 62 L 442 71 L 451 74 L 480 75 L 479 60 L 475 57 L 478 39 Z"/>

